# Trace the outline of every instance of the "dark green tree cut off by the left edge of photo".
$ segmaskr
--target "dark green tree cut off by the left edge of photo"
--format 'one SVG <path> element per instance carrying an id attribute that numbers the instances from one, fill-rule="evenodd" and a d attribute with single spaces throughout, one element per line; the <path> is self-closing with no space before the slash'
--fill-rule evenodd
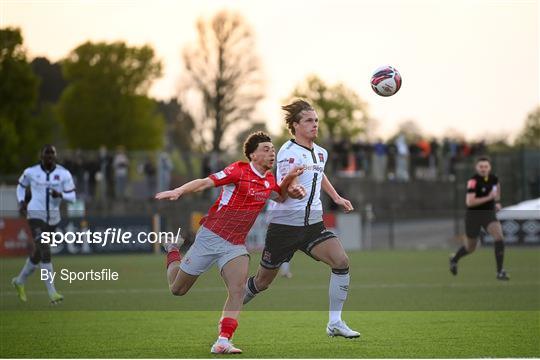
<path id="1" fill-rule="evenodd" d="M 21 170 L 37 160 L 45 134 L 32 110 L 39 80 L 32 72 L 17 28 L 0 29 L 0 172 Z"/>

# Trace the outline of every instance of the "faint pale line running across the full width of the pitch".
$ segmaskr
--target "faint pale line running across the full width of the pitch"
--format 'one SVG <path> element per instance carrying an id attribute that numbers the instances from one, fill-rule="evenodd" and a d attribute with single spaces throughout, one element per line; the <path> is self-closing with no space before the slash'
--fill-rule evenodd
<path id="1" fill-rule="evenodd" d="M 403 288 L 423 288 L 423 289 L 440 289 L 440 288 L 499 288 L 503 286 L 539 286 L 540 281 L 532 281 L 532 282 L 506 282 L 504 284 L 501 283 L 493 283 L 493 284 L 487 284 L 487 283 L 477 283 L 477 284 L 448 284 L 448 283 L 413 283 L 413 284 L 360 284 L 360 285 L 354 285 L 351 286 L 351 290 L 355 289 L 403 289 Z M 325 290 L 328 289 L 328 285 L 304 285 L 304 286 L 295 286 L 295 287 L 273 287 L 271 292 L 276 291 L 295 291 L 295 290 Z M 198 288 L 194 287 L 190 290 L 190 292 L 222 292 L 225 291 L 225 287 L 206 287 L 206 288 Z M 71 295 L 84 295 L 84 294 L 126 294 L 126 293 L 168 293 L 169 291 L 167 288 L 124 288 L 124 289 L 88 289 L 88 290 L 62 290 L 63 294 L 71 294 Z M 32 295 L 40 295 L 40 294 L 47 294 L 46 291 L 42 290 L 30 290 L 27 291 L 28 294 Z M 15 291 L 1 291 L 0 296 L 12 296 L 15 295 Z"/>

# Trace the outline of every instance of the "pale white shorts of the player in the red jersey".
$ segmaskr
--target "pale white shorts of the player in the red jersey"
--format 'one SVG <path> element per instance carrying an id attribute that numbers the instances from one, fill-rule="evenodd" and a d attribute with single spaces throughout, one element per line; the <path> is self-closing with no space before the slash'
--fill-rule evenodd
<path id="1" fill-rule="evenodd" d="M 232 259 L 249 253 L 244 244 L 232 244 L 204 226 L 199 228 L 193 245 L 180 262 L 180 269 L 189 275 L 201 275 L 217 262 L 219 271 Z"/>

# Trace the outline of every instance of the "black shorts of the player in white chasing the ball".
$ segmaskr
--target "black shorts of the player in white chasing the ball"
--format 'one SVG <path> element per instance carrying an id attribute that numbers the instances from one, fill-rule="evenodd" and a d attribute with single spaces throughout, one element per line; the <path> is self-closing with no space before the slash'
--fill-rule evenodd
<path id="1" fill-rule="evenodd" d="M 336 234 L 326 229 L 322 221 L 307 226 L 270 224 L 266 232 L 261 266 L 277 269 L 284 262 L 290 261 L 296 250 L 302 250 L 311 256 L 311 249 L 315 245 L 333 237 L 336 237 Z"/>

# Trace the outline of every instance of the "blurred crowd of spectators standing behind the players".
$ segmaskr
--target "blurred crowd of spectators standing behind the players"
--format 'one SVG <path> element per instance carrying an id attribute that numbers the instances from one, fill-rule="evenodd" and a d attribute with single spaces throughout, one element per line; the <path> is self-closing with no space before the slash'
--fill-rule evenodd
<path id="1" fill-rule="evenodd" d="M 486 149 L 483 142 L 450 139 L 407 142 L 405 136 L 400 135 L 386 142 L 381 139 L 374 142 L 342 139 L 334 141 L 328 150 L 327 171 L 330 174 L 406 182 L 449 179 L 455 174 L 457 162 L 483 154 Z M 135 156 L 121 146 L 114 152 L 101 147 L 97 152 L 76 150 L 65 154 L 62 160 L 73 175 L 79 197 L 84 200 L 150 199 L 156 192 L 174 185 L 171 184 L 173 163 L 166 151 Z M 208 176 L 224 165 L 219 153 L 202 155 L 200 175 Z M 134 177 L 138 178 L 136 184 Z"/>

